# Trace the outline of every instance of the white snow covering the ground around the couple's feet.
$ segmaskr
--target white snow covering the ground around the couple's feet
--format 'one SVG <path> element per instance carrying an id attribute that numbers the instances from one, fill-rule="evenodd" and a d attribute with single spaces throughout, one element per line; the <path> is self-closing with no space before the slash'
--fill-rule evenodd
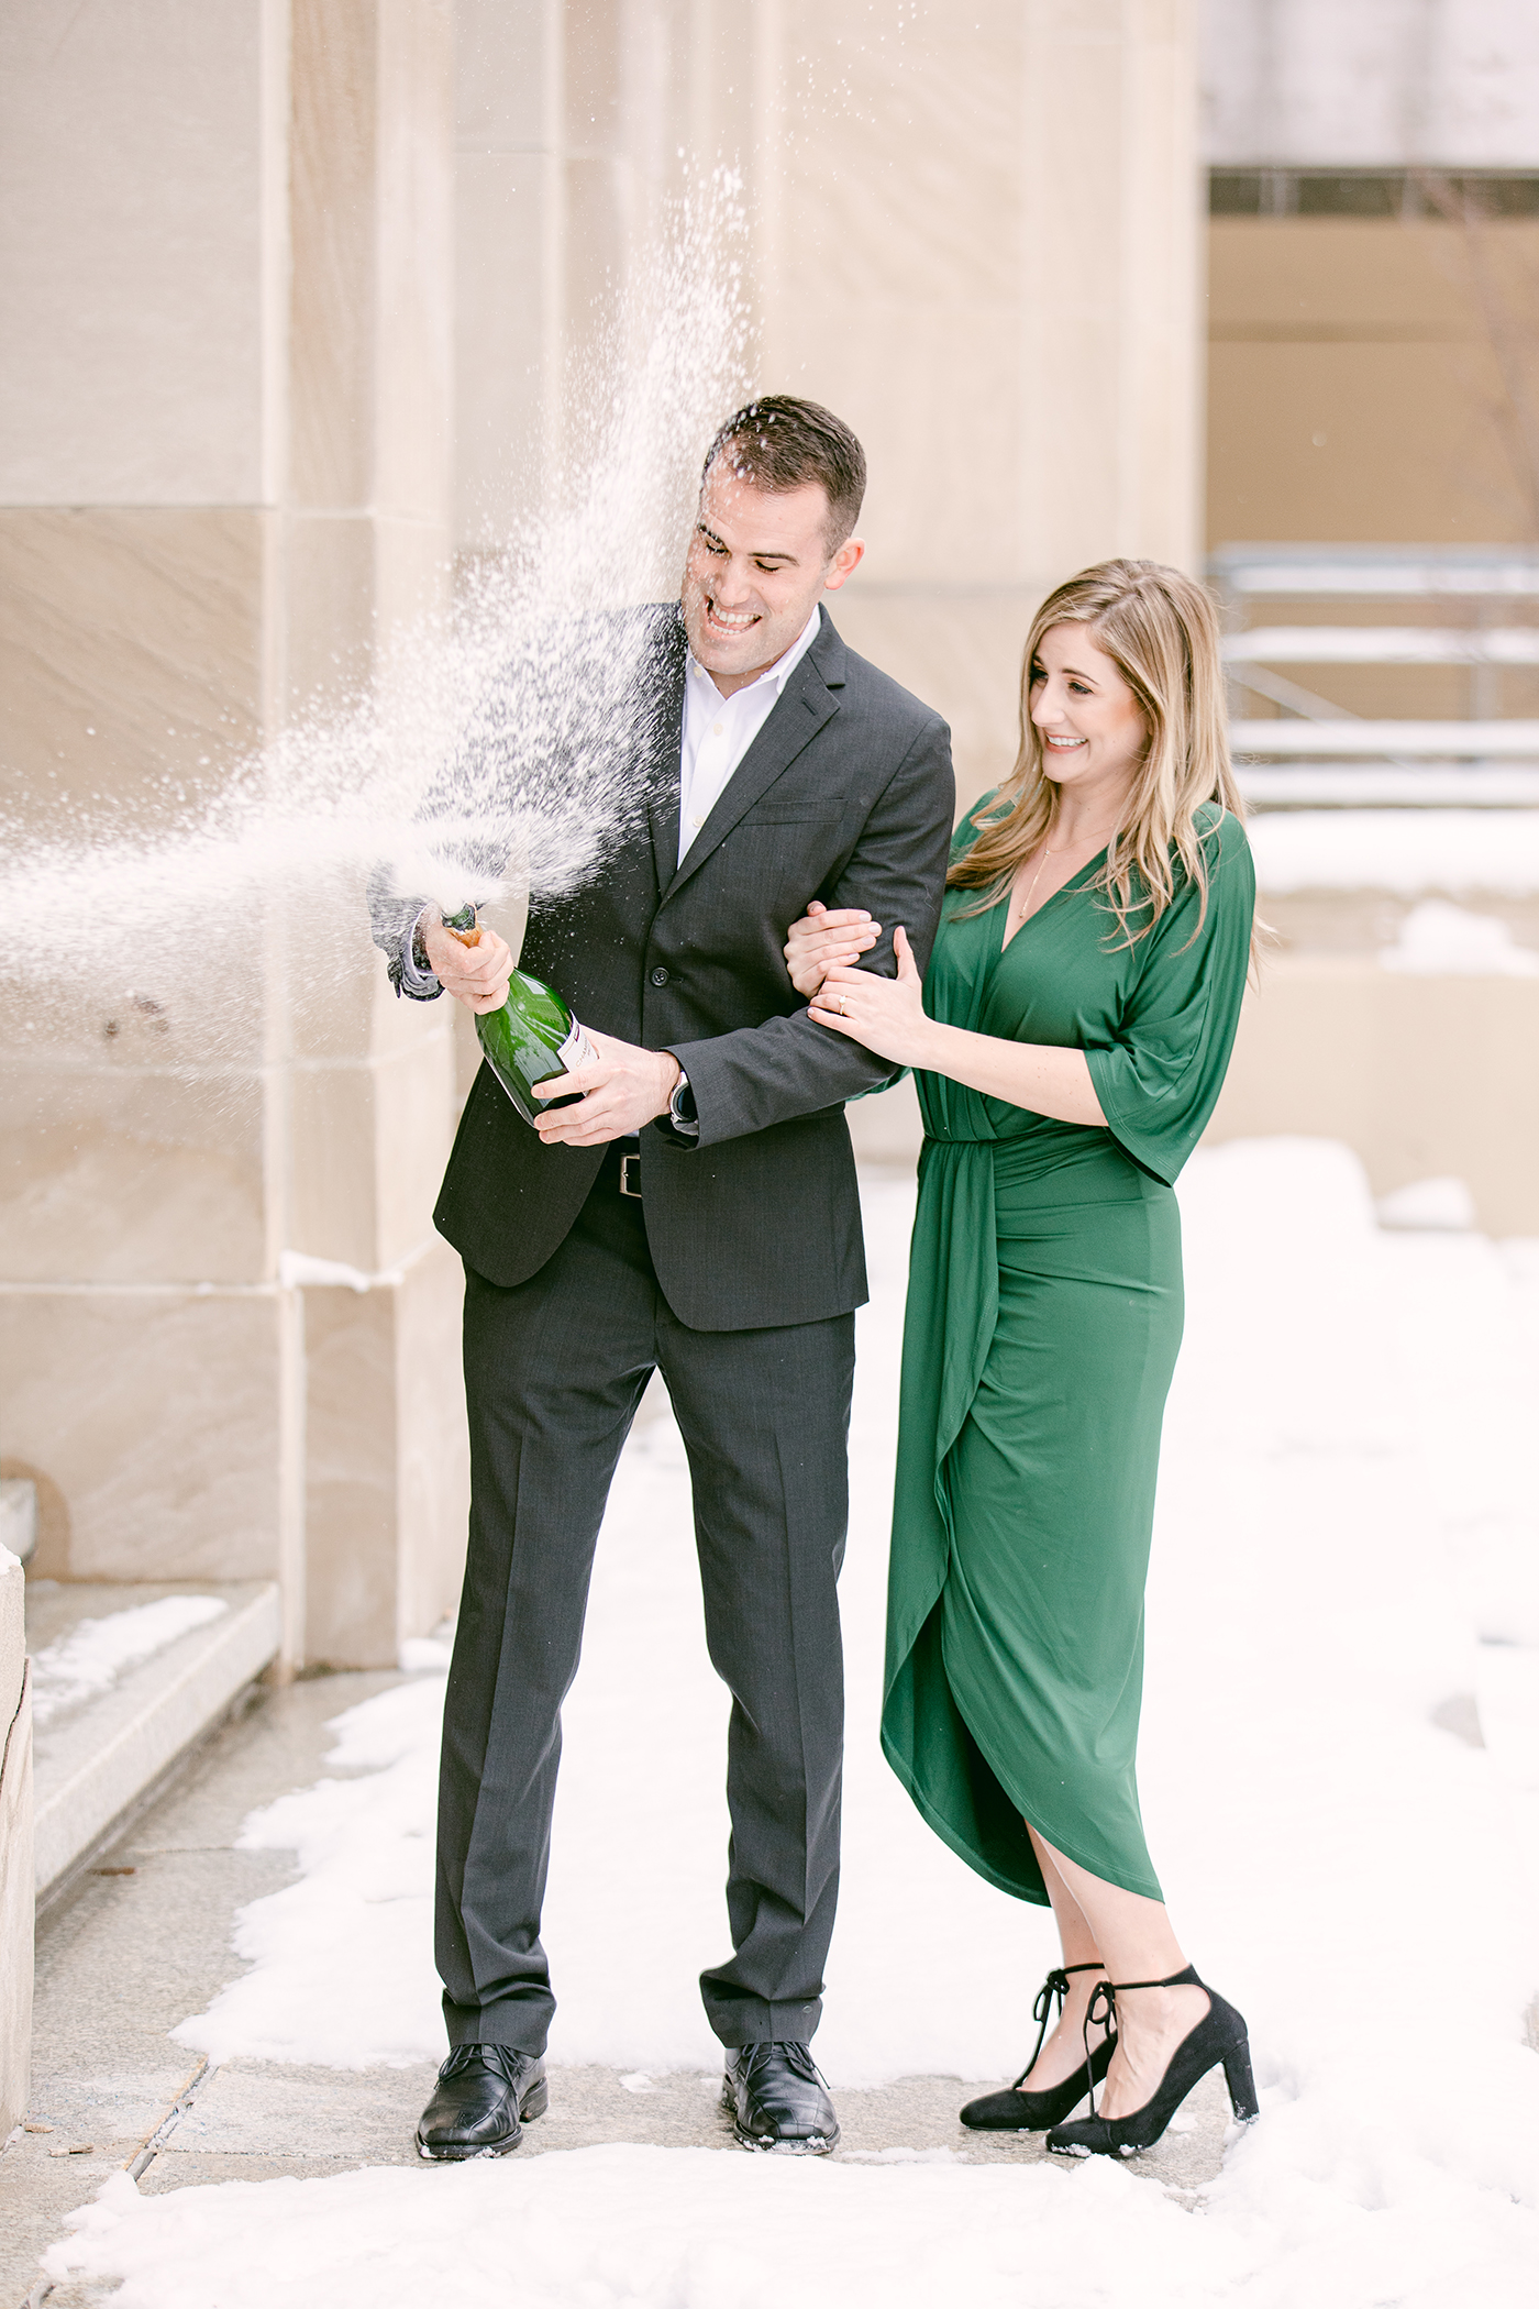
<path id="1" fill-rule="evenodd" d="M 1181 1203 L 1188 1337 L 1140 1771 L 1177 1928 L 1246 2011 L 1262 2083 L 1262 2122 L 1200 2214 L 1101 2164 L 810 2168 L 611 2147 L 143 2200 L 118 2177 L 55 2247 L 55 2274 L 122 2274 L 125 2309 L 768 2309 L 787 2286 L 808 2309 L 1527 2304 L 1539 1245 L 1387 1233 L 1357 1161 L 1320 1141 L 1204 1150 Z M 909 1187 L 868 1182 L 844 1891 L 819 2034 L 844 2090 L 1011 2073 L 1052 1960 L 1048 1919 L 921 1826 L 874 1741 L 909 1212 Z M 252 1845 L 298 1850 L 302 1873 L 245 1912 L 252 1970 L 185 2043 L 337 2067 L 441 2050 L 438 1697 L 422 1674 L 353 1709 L 337 1764 L 355 1776 L 247 1824 Z M 1477 1697 L 1486 1748 L 1467 1736 Z M 713 2064 L 695 1974 L 725 1944 L 722 1734 L 683 1452 L 655 1420 L 616 1482 L 568 1704 L 554 2064 Z"/>

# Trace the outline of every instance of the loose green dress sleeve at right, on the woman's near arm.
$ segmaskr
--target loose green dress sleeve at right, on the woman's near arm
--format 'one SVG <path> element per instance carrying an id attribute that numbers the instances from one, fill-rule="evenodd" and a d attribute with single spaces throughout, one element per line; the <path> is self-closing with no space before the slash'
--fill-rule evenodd
<path id="1" fill-rule="evenodd" d="M 1202 928 L 1188 882 L 1147 937 L 1117 1032 L 1084 1041 L 1112 1138 L 1168 1187 L 1218 1104 L 1251 961 L 1255 866 L 1237 817 L 1214 824 L 1207 857 Z"/>

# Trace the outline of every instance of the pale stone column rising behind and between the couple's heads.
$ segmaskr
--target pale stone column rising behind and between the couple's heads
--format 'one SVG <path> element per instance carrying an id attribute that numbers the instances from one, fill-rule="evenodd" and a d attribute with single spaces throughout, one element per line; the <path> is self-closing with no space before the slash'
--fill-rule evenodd
<path id="1" fill-rule="evenodd" d="M 865 441 L 835 617 L 946 713 L 971 797 L 1041 596 L 1108 554 L 1200 566 L 1195 5 L 755 16 L 761 379 Z"/>

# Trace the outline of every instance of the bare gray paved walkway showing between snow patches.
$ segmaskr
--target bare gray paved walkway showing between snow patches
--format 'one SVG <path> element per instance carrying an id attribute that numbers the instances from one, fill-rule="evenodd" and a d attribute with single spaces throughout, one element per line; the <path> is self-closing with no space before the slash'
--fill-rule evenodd
<path id="1" fill-rule="evenodd" d="M 32 2106 L 0 2154 L 0 2304 L 85 2309 L 95 2286 L 39 2288 L 39 2256 L 62 2219 L 129 2168 L 145 2191 L 277 2173 L 325 2175 L 353 2166 L 415 2164 L 411 2129 L 431 2067 L 300 2069 L 233 2060 L 222 2069 L 171 2041 L 171 2030 L 240 1970 L 231 1953 L 235 1910 L 293 1880 L 284 1852 L 240 1852 L 240 1822 L 258 1803 L 307 1787 L 325 1762 L 325 1723 L 374 1697 L 392 1674 L 316 1676 L 258 1690 L 134 1831 L 55 1910 L 37 1949 Z M 1013 2050 L 1013 2048 L 1001 2048 Z M 595 2143 L 722 2147 L 720 2076 L 671 2073 L 637 2090 L 616 2069 L 554 2069 L 549 2115 L 519 2157 Z M 969 2087 L 981 2090 L 981 2087 Z M 955 2120 L 969 2097 L 958 2078 L 918 2076 L 840 2092 L 840 2157 L 948 2150 L 969 2161 L 1031 2164 L 1041 2136 L 976 2136 Z M 1218 2076 L 1188 2101 L 1184 2131 L 1138 2173 L 1202 2189 L 1221 2164 L 1228 2103 Z"/>

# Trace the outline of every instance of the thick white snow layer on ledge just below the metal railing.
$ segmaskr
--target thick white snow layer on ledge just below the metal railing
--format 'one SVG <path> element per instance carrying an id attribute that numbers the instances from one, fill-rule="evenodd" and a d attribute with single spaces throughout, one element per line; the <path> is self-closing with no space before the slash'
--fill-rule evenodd
<path id="1" fill-rule="evenodd" d="M 1539 810 L 1262 810 L 1246 834 L 1264 891 L 1539 889 Z"/>

